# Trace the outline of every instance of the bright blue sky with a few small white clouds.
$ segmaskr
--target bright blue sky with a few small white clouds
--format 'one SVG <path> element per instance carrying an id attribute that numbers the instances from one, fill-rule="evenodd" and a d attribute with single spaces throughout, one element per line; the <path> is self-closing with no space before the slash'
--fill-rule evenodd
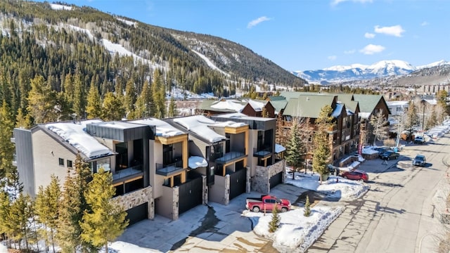
<path id="1" fill-rule="evenodd" d="M 285 70 L 450 60 L 449 0 L 65 0 L 229 39 Z"/>

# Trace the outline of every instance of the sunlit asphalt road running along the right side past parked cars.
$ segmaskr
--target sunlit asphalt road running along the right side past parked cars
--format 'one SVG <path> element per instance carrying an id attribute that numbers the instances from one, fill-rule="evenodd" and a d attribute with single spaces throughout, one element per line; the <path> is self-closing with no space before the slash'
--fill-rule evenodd
<path id="1" fill-rule="evenodd" d="M 444 230 L 433 199 L 450 181 L 449 145 L 447 134 L 436 143 L 406 146 L 398 161 L 361 168 L 369 172 L 371 190 L 348 202 L 307 252 L 437 252 Z M 418 153 L 427 157 L 426 167 L 412 166 Z"/>

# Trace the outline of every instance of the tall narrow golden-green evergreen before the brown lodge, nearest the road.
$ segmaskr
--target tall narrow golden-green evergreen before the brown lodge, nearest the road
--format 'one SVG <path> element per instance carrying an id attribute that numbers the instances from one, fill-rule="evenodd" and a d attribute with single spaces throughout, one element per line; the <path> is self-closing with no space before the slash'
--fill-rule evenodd
<path id="1" fill-rule="evenodd" d="M 328 140 L 328 129 L 331 126 L 333 109 L 330 105 L 321 108 L 319 117 L 316 119 L 317 131 L 314 133 L 314 153 L 312 158 L 312 169 L 320 174 L 321 183 L 323 177 L 328 175 L 327 168 L 330 162 L 330 141 Z"/>

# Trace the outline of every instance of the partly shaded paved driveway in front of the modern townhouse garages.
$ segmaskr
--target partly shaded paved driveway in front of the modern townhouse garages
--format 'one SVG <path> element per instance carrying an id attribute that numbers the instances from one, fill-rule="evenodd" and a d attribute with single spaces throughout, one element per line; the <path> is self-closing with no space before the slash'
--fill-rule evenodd
<path id="1" fill-rule="evenodd" d="M 271 194 L 299 203 L 306 190 L 283 184 L 271 190 Z M 210 202 L 200 205 L 176 221 L 155 216 L 153 221 L 136 223 L 117 238 L 155 252 L 278 252 L 271 240 L 259 237 L 252 231 L 250 219 L 241 216 L 247 197 L 259 197 L 251 192 L 239 195 L 229 205 Z"/>

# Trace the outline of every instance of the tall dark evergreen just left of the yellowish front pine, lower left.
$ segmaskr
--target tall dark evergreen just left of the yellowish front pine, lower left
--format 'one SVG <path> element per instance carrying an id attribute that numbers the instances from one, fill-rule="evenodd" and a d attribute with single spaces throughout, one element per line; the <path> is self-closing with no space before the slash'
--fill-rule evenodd
<path id="1" fill-rule="evenodd" d="M 89 205 L 86 203 L 83 192 L 90 179 L 91 169 L 89 169 L 89 164 L 86 164 L 81 155 L 78 154 L 75 159 L 75 173 L 68 171 L 68 176 L 65 179 L 58 213 L 56 241 L 63 253 L 75 253 L 77 249 L 82 250 L 82 252 L 96 249 L 81 238 L 82 228 L 80 223 L 83 212 L 84 210 L 89 212 Z"/>

